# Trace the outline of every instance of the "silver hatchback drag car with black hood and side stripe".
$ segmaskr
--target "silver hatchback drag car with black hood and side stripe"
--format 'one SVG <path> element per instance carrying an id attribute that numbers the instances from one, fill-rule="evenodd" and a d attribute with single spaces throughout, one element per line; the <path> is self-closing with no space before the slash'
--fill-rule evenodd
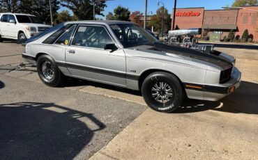
<path id="1" fill-rule="evenodd" d="M 231 56 L 162 44 L 131 22 L 59 24 L 27 40 L 22 57 L 47 86 L 75 77 L 142 90 L 146 104 L 163 112 L 184 97 L 216 101 L 241 82 Z"/>

